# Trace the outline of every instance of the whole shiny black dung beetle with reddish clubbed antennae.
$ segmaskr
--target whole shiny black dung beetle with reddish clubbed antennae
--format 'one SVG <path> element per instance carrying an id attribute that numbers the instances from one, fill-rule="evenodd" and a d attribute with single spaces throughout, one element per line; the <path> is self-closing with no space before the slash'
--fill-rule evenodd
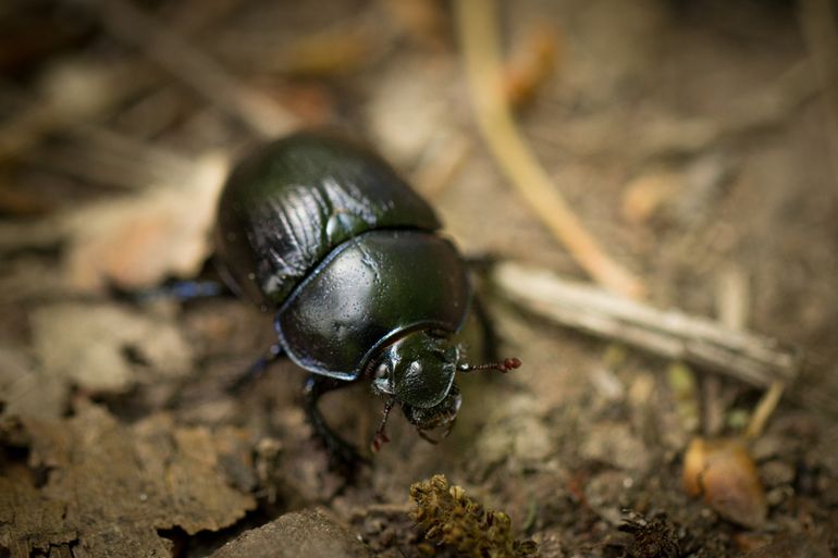
<path id="1" fill-rule="evenodd" d="M 224 185 L 215 262 L 241 297 L 275 315 L 278 343 L 310 374 L 307 418 L 338 463 L 355 448 L 318 410 L 324 393 L 361 380 L 386 396 L 373 451 L 399 404 L 423 437 L 451 429 L 460 407 L 454 376 L 508 371 L 518 359 L 470 365 L 452 337 L 472 292 L 441 223 L 383 159 L 341 136 L 300 132 L 243 160 Z"/>

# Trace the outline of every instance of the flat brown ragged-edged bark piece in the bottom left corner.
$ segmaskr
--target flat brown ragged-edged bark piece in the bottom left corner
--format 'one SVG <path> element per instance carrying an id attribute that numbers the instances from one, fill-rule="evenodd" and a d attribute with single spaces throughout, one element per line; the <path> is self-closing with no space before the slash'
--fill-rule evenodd
<path id="1" fill-rule="evenodd" d="M 65 420 L 21 421 L 28 462 L 0 470 L 0 494 L 12 496 L 0 497 L 0 548 L 11 558 L 61 544 L 74 556 L 170 556 L 160 530 L 215 531 L 256 507 L 224 473 L 233 461 L 252 467 L 242 431 L 176 427 L 165 414 L 126 426 L 91 404 Z"/>

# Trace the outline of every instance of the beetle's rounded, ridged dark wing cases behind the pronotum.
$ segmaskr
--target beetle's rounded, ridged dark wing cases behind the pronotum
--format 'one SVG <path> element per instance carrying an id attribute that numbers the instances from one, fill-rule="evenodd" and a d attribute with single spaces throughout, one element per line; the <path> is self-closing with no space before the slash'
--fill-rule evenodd
<path id="1" fill-rule="evenodd" d="M 235 169 L 219 203 L 215 252 L 231 287 L 276 307 L 354 236 L 439 226 L 430 206 L 382 159 L 343 139 L 300 133 Z"/>

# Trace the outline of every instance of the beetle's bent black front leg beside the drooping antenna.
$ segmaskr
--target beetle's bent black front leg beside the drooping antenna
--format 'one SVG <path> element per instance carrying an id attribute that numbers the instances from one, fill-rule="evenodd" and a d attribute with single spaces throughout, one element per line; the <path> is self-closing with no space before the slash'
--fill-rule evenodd
<path id="1" fill-rule="evenodd" d="M 320 396 L 331 392 L 350 385 L 352 382 L 345 382 L 333 377 L 321 376 L 318 374 L 311 374 L 306 379 L 303 386 L 303 395 L 305 396 L 306 418 L 315 429 L 315 435 L 323 443 L 326 451 L 329 452 L 329 459 L 331 466 L 343 472 L 346 476 L 350 478 L 356 472 L 358 464 L 366 460 L 358 454 L 358 450 L 338 436 L 320 413 L 317 402 Z"/>

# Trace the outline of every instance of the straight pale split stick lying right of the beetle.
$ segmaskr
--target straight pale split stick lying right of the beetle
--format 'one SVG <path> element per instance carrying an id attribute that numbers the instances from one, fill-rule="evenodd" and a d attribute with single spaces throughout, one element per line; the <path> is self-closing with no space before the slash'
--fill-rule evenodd
<path id="1" fill-rule="evenodd" d="M 513 262 L 495 266 L 502 296 L 559 325 L 704 367 L 757 387 L 798 375 L 797 352 L 774 339 L 703 318 L 663 311 Z"/>

